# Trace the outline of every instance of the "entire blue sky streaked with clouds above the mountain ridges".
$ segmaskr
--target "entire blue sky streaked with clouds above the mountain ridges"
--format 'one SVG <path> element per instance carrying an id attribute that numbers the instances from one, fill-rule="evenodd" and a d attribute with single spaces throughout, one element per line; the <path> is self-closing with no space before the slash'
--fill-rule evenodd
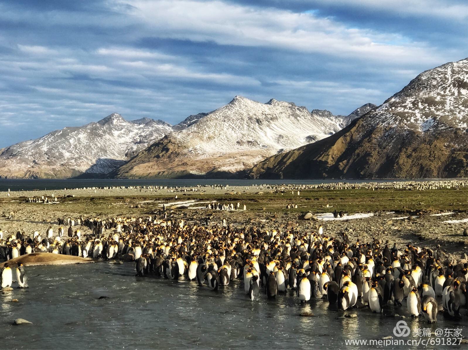
<path id="1" fill-rule="evenodd" d="M 3 0 L 0 147 L 235 95 L 348 114 L 468 56 L 465 0 Z"/>

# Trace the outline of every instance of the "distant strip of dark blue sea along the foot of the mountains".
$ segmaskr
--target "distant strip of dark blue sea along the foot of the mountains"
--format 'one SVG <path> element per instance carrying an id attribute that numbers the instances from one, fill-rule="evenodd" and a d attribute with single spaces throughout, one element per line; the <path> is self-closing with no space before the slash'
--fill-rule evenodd
<path id="1" fill-rule="evenodd" d="M 400 180 L 219 180 L 219 179 L 0 179 L 0 191 L 32 190 L 32 189 L 74 189 L 81 187 L 103 187 L 103 186 L 195 186 L 195 185 L 230 185 L 230 186 L 251 186 L 252 184 L 317 184 L 332 182 L 388 182 Z M 414 181 L 424 181 L 414 180 Z"/>

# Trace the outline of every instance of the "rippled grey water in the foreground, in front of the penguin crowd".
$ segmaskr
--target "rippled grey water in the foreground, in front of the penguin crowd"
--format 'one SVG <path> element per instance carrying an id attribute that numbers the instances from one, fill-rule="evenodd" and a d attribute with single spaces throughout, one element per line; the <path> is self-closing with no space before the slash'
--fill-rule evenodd
<path id="1" fill-rule="evenodd" d="M 218 292 L 178 281 L 134 276 L 133 263 L 107 262 L 68 266 L 29 266 L 29 289 L 0 294 L 2 349 L 367 349 L 417 346 L 345 346 L 346 339 L 393 336 L 400 318 L 376 315 L 368 308 L 352 310 L 356 318 L 330 310 L 328 302 L 300 305 L 292 291 L 274 301 L 260 294 L 250 301 L 243 282 L 234 281 Z M 100 296 L 110 299 L 99 300 Z M 19 302 L 11 302 L 12 299 Z M 403 304 L 404 306 L 405 304 Z M 388 312 L 395 311 L 389 307 Z M 312 311 L 314 317 L 300 317 Z M 405 315 L 406 310 L 396 310 Z M 464 312 L 464 311 L 463 311 Z M 13 326 L 16 318 L 33 325 Z M 461 322 L 439 315 L 429 325 L 424 317 L 407 317 L 417 329 L 460 328 L 467 336 L 467 317 Z M 395 336 L 394 336 L 394 339 Z M 456 348 L 461 346 L 432 346 Z"/>

